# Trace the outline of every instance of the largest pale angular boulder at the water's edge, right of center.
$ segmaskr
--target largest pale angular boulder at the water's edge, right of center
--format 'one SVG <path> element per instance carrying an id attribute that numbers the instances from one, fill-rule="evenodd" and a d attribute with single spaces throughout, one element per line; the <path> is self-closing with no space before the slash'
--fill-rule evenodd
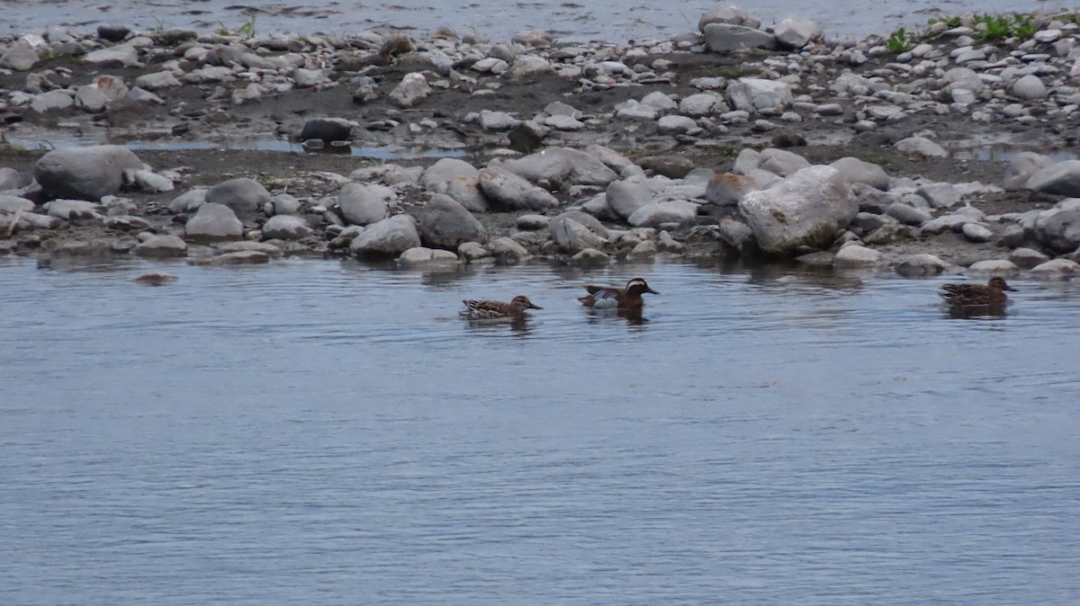
<path id="1" fill-rule="evenodd" d="M 761 250 L 789 254 L 799 247 L 827 248 L 859 212 L 859 203 L 839 170 L 810 166 L 747 193 L 739 210 Z"/>

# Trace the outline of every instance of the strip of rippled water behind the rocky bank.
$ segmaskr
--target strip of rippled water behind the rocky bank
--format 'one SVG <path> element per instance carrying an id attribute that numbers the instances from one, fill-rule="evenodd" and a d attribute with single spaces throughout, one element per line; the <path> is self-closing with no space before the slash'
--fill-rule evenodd
<path id="1" fill-rule="evenodd" d="M 349 33 L 373 28 L 402 28 L 417 35 L 438 27 L 477 32 L 496 40 L 539 28 L 563 40 L 600 39 L 624 42 L 697 29 L 698 17 L 716 5 L 739 2 L 684 0 L 678 4 L 648 0 L 364 0 L 322 2 L 235 0 L 0 0 L 0 35 L 25 33 L 63 25 L 76 31 L 123 24 L 143 30 L 194 27 L 235 30 L 255 16 L 258 33 Z M 1057 12 L 1074 10 L 1078 0 L 756 0 L 742 3 L 765 25 L 788 15 L 812 18 L 833 36 L 890 33 L 900 26 L 926 25 L 934 16 L 966 12 Z"/>

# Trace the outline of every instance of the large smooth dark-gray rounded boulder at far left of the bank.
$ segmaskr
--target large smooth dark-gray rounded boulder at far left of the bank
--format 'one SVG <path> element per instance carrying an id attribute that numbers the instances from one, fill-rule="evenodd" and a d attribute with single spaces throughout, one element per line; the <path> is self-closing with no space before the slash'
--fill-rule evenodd
<path id="1" fill-rule="evenodd" d="M 143 163 L 122 146 L 90 146 L 53 150 L 38 160 L 33 177 L 49 197 L 97 202 L 120 193 L 125 170 Z"/>

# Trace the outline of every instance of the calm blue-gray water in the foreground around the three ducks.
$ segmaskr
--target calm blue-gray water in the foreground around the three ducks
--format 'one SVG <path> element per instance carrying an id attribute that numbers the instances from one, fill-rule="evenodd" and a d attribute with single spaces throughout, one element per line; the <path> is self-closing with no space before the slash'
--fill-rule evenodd
<path id="1" fill-rule="evenodd" d="M 793 272 L 0 259 L 0 604 L 1075 604 L 1080 285 Z"/>

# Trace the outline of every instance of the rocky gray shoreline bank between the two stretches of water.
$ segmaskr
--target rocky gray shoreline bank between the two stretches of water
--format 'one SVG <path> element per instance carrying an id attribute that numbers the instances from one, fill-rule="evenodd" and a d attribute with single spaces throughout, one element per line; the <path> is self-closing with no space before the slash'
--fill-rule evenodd
<path id="1" fill-rule="evenodd" d="M 0 42 L 0 254 L 1070 277 L 1078 24 L 837 40 L 725 6 L 617 45 L 54 28 Z M 284 141 L 308 151 L 238 149 Z"/>

